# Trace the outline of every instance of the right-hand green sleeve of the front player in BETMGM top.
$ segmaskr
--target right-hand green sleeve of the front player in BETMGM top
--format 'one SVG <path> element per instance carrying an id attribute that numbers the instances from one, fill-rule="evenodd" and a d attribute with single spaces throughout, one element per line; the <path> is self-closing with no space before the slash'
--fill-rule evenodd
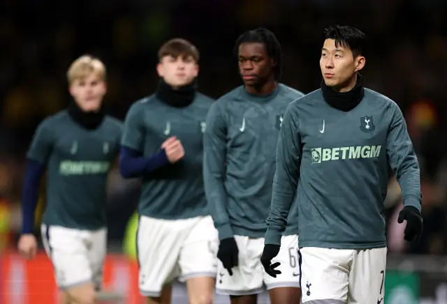
<path id="1" fill-rule="evenodd" d="M 396 105 L 391 116 L 386 153 L 402 190 L 404 206 L 421 209 L 419 162 L 401 110 Z"/>

